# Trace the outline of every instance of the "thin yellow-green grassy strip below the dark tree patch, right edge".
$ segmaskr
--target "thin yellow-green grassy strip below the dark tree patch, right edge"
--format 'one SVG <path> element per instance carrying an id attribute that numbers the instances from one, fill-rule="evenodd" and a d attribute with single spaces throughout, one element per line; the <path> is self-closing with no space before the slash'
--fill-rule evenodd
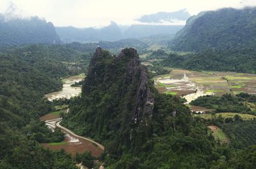
<path id="1" fill-rule="evenodd" d="M 238 114 L 238 113 L 217 113 L 215 115 L 211 115 L 211 114 L 197 114 L 196 116 L 200 116 L 204 119 L 212 119 L 212 118 L 216 118 L 219 115 L 221 115 L 224 119 L 227 118 L 234 118 L 235 115 L 239 115 L 244 121 L 248 121 L 248 120 L 252 120 L 254 118 L 256 118 L 256 115 L 252 115 L 252 114 Z"/>

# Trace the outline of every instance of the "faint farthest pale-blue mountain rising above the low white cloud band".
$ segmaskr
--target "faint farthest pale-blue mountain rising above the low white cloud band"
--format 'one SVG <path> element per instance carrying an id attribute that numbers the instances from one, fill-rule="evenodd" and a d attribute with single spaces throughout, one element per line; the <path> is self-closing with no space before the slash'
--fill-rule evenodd
<path id="1" fill-rule="evenodd" d="M 173 11 L 173 12 L 164 12 L 160 11 L 158 13 L 143 15 L 138 19 L 140 22 L 144 23 L 177 23 L 179 21 L 184 21 L 191 17 L 186 9 Z"/>

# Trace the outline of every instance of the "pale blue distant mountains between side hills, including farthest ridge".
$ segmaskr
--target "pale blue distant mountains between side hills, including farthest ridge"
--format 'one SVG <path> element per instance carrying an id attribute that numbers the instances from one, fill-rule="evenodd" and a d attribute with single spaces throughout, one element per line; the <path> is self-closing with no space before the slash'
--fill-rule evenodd
<path id="1" fill-rule="evenodd" d="M 111 22 L 109 26 L 101 29 L 56 27 L 56 32 L 61 41 L 68 43 L 72 41 L 116 41 L 125 38 L 142 38 L 156 34 L 175 34 L 186 20 L 190 17 L 187 10 L 173 12 L 159 12 L 151 15 L 143 15 L 138 19 L 140 23 L 131 26 L 118 26 Z M 183 23 L 183 25 L 182 25 Z"/>

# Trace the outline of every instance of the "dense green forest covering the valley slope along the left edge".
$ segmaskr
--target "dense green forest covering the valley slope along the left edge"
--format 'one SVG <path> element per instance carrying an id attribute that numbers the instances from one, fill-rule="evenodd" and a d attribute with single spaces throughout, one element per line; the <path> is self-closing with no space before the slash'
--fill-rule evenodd
<path id="1" fill-rule="evenodd" d="M 76 168 L 69 154 L 38 144 L 64 138 L 58 129 L 51 133 L 38 117 L 54 110 L 44 94 L 60 90 L 62 77 L 83 71 L 70 68 L 70 62 L 90 59 L 89 53 L 80 54 L 61 45 L 1 48 L 0 168 Z"/>

